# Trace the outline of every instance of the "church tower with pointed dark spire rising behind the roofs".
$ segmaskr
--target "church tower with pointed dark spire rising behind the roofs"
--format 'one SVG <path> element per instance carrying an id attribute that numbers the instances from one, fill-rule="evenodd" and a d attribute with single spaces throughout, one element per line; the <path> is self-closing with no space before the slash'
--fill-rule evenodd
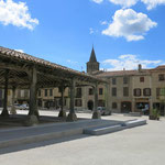
<path id="1" fill-rule="evenodd" d="M 90 54 L 90 59 L 87 63 L 87 73 L 91 74 L 92 72 L 98 72 L 99 70 L 99 65 L 100 64 L 97 62 L 95 50 L 94 50 L 94 46 L 92 46 L 92 51 L 91 51 L 91 54 Z"/>

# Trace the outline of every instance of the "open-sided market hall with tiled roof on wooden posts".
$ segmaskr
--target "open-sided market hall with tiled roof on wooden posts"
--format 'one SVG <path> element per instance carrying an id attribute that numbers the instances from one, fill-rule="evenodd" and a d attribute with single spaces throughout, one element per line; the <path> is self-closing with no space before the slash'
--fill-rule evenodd
<path id="1" fill-rule="evenodd" d="M 75 88 L 91 86 L 95 90 L 95 110 L 92 119 L 100 118 L 97 111 L 98 107 L 98 85 L 108 86 L 103 79 L 80 73 L 55 63 L 51 63 L 25 53 L 14 50 L 0 47 L 0 88 L 4 90 L 3 109 L 0 114 L 1 119 L 10 119 L 8 110 L 8 89 L 12 89 L 12 108 L 14 109 L 14 95 L 16 89 L 29 89 L 29 114 L 25 118 L 28 125 L 36 124 L 40 120 L 37 109 L 37 91 L 42 88 L 59 88 L 62 96 L 62 107 L 58 117 L 65 118 L 66 121 L 76 121 L 77 116 L 75 106 Z M 70 108 L 66 117 L 63 108 L 64 90 L 69 88 Z"/>

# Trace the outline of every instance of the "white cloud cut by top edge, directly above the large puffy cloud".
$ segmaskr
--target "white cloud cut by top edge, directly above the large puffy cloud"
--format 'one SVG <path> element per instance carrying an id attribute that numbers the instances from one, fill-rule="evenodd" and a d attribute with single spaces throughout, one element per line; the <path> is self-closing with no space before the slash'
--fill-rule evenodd
<path id="1" fill-rule="evenodd" d="M 139 0 L 109 0 L 114 4 L 122 6 L 123 8 L 129 8 L 134 6 Z"/>

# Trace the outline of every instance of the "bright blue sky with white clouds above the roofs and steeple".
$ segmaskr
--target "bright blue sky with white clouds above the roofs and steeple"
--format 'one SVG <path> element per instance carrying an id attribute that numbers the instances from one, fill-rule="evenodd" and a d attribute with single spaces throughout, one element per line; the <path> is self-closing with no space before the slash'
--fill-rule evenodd
<path id="1" fill-rule="evenodd" d="M 0 46 L 85 70 L 165 65 L 165 0 L 0 0 Z"/>

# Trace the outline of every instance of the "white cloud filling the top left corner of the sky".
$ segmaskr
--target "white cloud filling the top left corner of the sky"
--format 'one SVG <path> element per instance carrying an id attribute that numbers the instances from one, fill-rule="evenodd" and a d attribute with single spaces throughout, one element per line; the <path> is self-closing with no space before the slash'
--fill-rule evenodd
<path id="1" fill-rule="evenodd" d="M 32 19 L 25 2 L 0 0 L 0 22 L 3 25 L 12 24 L 19 28 L 33 30 L 38 24 L 37 19 Z"/>

